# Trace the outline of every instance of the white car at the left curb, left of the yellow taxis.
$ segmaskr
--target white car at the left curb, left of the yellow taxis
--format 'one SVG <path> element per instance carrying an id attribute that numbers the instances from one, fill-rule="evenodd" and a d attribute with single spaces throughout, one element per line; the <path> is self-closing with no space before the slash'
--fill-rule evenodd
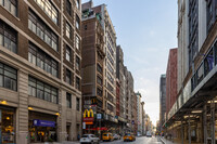
<path id="1" fill-rule="evenodd" d="M 99 144 L 100 139 L 94 134 L 84 134 L 80 139 L 80 144 Z"/>

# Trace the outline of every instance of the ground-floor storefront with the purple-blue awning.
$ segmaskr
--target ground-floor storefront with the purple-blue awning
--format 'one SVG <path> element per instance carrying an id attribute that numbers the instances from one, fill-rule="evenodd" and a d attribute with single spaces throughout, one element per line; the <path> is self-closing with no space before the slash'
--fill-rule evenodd
<path id="1" fill-rule="evenodd" d="M 56 142 L 56 116 L 29 112 L 30 143 Z"/>

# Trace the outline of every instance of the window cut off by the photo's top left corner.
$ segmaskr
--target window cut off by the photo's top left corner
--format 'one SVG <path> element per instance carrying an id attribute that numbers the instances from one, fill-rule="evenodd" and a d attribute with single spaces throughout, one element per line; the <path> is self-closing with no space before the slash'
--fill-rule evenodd
<path id="1" fill-rule="evenodd" d="M 0 0 L 0 4 L 14 16 L 17 16 L 17 0 Z"/>

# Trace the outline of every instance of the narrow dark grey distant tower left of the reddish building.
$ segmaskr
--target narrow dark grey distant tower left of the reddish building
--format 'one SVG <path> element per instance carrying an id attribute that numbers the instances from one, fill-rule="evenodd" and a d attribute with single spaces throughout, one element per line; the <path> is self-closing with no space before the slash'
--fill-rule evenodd
<path id="1" fill-rule="evenodd" d="M 159 79 L 159 132 L 163 132 L 163 125 L 166 122 L 166 75 Z"/>

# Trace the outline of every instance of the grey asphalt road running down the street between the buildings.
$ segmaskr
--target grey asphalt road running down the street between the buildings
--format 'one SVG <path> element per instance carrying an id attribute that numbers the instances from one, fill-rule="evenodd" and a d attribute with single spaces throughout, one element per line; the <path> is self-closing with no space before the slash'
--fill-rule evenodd
<path id="1" fill-rule="evenodd" d="M 113 142 L 101 142 L 102 144 L 162 144 L 158 138 L 137 138 L 135 142 L 124 142 L 123 140 L 115 140 Z"/>

